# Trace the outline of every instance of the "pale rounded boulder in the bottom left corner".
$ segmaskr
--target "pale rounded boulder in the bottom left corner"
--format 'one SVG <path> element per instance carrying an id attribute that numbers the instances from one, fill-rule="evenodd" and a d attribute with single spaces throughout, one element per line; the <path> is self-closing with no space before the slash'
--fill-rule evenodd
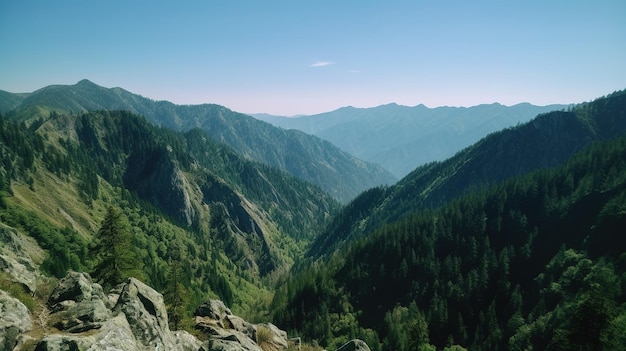
<path id="1" fill-rule="evenodd" d="M 13 350 L 20 334 L 31 329 L 28 308 L 0 290 L 0 349 Z"/>

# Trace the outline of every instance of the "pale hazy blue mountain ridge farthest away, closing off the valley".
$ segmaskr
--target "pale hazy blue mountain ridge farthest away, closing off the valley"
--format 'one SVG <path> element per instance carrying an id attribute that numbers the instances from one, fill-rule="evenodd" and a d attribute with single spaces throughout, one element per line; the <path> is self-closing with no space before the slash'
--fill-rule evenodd
<path id="1" fill-rule="evenodd" d="M 349 106 L 301 117 L 253 116 L 326 139 L 402 178 L 420 165 L 453 156 L 489 133 L 566 107 L 529 103 L 436 108 L 388 104 L 372 108 Z"/>

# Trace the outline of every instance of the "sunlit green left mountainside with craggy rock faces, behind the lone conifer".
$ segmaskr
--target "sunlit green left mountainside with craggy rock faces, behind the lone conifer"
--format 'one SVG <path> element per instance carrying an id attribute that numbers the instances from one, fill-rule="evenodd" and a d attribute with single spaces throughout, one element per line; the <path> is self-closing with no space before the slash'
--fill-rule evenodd
<path id="1" fill-rule="evenodd" d="M 172 260 L 182 262 L 191 305 L 219 296 L 246 308 L 269 293 L 260 278 L 288 269 L 339 207 L 199 129 L 173 132 L 130 112 L 0 118 L 0 138 L 0 220 L 37 240 L 44 271 L 89 271 L 93 234 L 114 206 L 146 281 L 162 289 Z"/>

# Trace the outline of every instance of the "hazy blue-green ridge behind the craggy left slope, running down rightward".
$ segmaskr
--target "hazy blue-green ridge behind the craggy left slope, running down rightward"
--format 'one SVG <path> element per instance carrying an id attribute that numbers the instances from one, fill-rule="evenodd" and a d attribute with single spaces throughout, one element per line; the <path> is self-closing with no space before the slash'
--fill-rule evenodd
<path id="1" fill-rule="evenodd" d="M 126 110 L 151 122 L 178 131 L 203 129 L 211 138 L 224 142 L 245 157 L 284 170 L 325 189 L 347 202 L 361 191 L 395 181 L 388 171 L 357 159 L 322 139 L 302 132 L 276 128 L 223 106 L 175 105 L 153 101 L 121 88 L 107 89 L 88 80 L 75 85 L 51 85 L 31 94 L 0 94 L 0 106 L 9 118 L 30 118 L 42 109 L 86 112 Z M 16 106 L 17 102 L 21 103 Z M 23 112 L 25 111 L 25 112 Z"/>

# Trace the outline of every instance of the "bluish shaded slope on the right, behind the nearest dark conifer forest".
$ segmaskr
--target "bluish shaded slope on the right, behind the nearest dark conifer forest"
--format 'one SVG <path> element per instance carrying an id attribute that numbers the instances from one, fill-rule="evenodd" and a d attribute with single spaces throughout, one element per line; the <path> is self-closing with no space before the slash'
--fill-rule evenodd
<path id="1" fill-rule="evenodd" d="M 454 157 L 415 169 L 391 187 L 364 192 L 319 236 L 310 256 L 328 254 L 341 242 L 416 210 L 440 206 L 468 189 L 556 166 L 592 142 L 624 132 L 626 92 L 621 91 L 493 133 Z"/>

